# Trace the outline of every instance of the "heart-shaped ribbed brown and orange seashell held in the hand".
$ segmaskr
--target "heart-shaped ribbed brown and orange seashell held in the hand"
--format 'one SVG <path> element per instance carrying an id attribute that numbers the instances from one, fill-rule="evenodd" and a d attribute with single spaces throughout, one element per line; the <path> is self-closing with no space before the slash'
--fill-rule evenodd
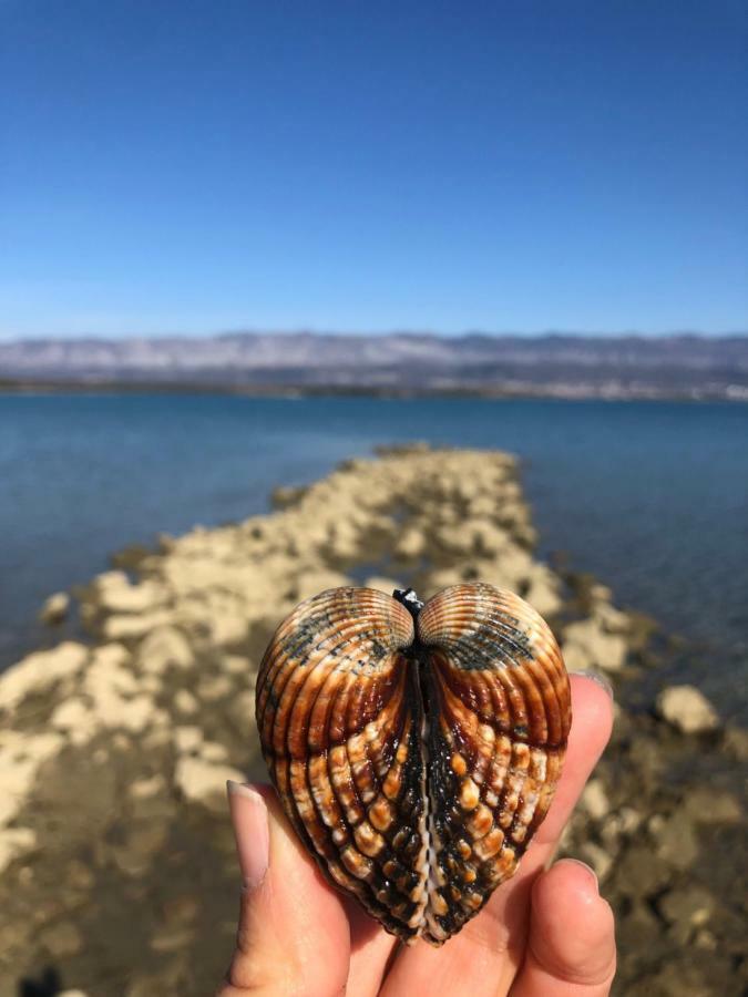
<path id="1" fill-rule="evenodd" d="M 516 870 L 553 799 L 568 677 L 541 616 L 483 583 L 426 605 L 334 588 L 278 627 L 263 753 L 327 878 L 403 942 L 441 945 Z"/>

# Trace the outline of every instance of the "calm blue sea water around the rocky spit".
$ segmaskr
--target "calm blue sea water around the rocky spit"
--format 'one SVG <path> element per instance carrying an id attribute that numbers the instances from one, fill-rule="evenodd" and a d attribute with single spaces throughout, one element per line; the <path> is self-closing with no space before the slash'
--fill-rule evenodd
<path id="1" fill-rule="evenodd" d="M 0 395 L 0 665 L 51 592 L 107 554 L 267 508 L 377 443 L 511 450 L 544 553 L 698 644 L 688 674 L 748 699 L 748 405 Z"/>

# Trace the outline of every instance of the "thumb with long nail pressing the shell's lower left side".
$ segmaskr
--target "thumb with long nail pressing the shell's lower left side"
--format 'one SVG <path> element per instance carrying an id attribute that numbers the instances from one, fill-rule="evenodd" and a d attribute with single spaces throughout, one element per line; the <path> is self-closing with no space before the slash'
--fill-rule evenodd
<path id="1" fill-rule="evenodd" d="M 337 895 L 269 787 L 228 783 L 244 880 L 236 950 L 218 997 L 342 994 L 350 936 Z"/>

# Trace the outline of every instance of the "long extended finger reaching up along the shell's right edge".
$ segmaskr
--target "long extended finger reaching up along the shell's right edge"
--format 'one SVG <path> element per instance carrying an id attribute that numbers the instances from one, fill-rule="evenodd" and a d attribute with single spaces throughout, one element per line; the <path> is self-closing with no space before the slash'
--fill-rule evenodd
<path id="1" fill-rule="evenodd" d="M 609 692 L 586 676 L 571 676 L 572 730 L 553 804 L 535 840 L 511 880 L 500 886 L 483 911 L 443 948 L 423 942 L 398 956 L 383 994 L 430 997 L 469 993 L 471 997 L 506 994 L 522 963 L 533 880 L 553 855 L 561 832 L 611 737 Z"/>

